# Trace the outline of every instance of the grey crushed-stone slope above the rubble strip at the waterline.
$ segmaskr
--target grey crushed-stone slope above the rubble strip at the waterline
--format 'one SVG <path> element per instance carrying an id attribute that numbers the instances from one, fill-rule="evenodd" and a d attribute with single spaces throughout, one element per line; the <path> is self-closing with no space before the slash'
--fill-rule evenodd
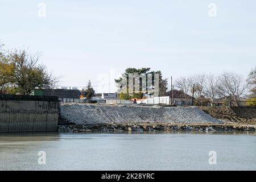
<path id="1" fill-rule="evenodd" d="M 198 107 L 63 104 L 61 117 L 80 124 L 96 123 L 221 123 Z"/>

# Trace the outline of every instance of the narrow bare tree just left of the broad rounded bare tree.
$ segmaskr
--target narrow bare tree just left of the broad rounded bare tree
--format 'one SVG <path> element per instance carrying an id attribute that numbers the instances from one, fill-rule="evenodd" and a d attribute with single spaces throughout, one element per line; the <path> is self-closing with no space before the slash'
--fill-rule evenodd
<path id="1" fill-rule="evenodd" d="M 218 79 L 213 74 L 209 74 L 205 77 L 205 90 L 204 94 L 206 97 L 210 98 L 212 105 L 215 105 L 215 100 L 218 91 Z"/>

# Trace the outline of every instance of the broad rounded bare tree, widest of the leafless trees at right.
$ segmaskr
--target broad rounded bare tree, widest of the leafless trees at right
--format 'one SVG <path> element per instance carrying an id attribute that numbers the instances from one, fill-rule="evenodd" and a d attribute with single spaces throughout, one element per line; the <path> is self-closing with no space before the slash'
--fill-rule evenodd
<path id="1" fill-rule="evenodd" d="M 243 96 L 248 87 L 245 79 L 233 72 L 224 72 L 218 78 L 218 94 L 228 98 L 233 106 L 239 105 L 239 98 Z"/>

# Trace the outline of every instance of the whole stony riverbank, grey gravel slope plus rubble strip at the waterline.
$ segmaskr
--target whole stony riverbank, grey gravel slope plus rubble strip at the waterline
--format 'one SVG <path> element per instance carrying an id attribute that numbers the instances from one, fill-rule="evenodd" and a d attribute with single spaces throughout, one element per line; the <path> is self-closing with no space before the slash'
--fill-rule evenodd
<path id="1" fill-rule="evenodd" d="M 216 114 L 215 114 L 216 115 Z M 63 104 L 59 132 L 255 131 L 255 123 L 226 121 L 199 107 Z"/>

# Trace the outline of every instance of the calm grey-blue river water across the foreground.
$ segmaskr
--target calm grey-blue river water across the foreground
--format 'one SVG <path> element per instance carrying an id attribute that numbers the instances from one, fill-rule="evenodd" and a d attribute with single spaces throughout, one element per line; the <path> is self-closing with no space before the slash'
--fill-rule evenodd
<path id="1" fill-rule="evenodd" d="M 0 169 L 256 170 L 256 133 L 0 134 Z"/>

